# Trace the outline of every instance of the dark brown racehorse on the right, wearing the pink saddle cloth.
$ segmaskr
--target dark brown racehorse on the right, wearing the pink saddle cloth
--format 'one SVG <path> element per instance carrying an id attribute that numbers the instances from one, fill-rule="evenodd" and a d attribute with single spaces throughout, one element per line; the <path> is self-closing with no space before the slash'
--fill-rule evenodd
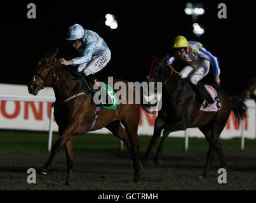
<path id="1" fill-rule="evenodd" d="M 219 111 L 203 112 L 199 110 L 201 103 L 198 94 L 189 82 L 180 77 L 179 72 L 176 72 L 171 65 L 165 63 L 165 57 L 163 57 L 162 62 L 155 58 L 147 81 L 163 82 L 162 107 L 158 112 L 158 117 L 154 124 L 154 134 L 142 158 L 142 164 L 147 162 L 161 131 L 163 131 L 163 137 L 154 157 L 154 163 L 159 165 L 162 163 L 161 152 L 163 151 L 163 144 L 168 134 L 187 128 L 199 128 L 210 144 L 203 177 L 208 176 L 208 169 L 213 162 L 215 152 L 219 156 L 221 167 L 225 167 L 226 162 L 219 142 L 219 136 L 226 126 L 231 110 L 234 111 L 238 121 L 239 117 L 245 118 L 245 104 L 241 101 L 242 103 L 236 103 L 236 106 L 232 106 L 232 101 L 226 91 L 220 86 L 213 84 L 213 88 L 218 93 L 218 98 L 216 99 L 220 101 L 221 105 Z"/>

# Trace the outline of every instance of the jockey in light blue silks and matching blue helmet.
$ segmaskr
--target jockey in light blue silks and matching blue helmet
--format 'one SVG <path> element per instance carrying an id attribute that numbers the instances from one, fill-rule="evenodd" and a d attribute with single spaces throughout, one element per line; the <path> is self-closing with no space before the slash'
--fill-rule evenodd
<path id="1" fill-rule="evenodd" d="M 69 27 L 66 39 L 82 56 L 72 60 L 60 58 L 60 63 L 77 66 L 77 71 L 83 72 L 92 85 L 100 87 L 100 82 L 93 74 L 102 70 L 111 60 L 111 51 L 107 43 L 96 32 L 83 29 L 79 24 Z"/>

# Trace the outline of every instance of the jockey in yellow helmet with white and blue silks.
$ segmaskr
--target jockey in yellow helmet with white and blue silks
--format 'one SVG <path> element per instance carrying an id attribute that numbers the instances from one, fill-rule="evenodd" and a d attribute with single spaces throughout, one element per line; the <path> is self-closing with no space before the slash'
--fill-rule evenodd
<path id="1" fill-rule="evenodd" d="M 187 41 L 183 36 L 177 36 L 173 40 L 172 48 L 175 51 L 174 56 L 166 56 L 166 62 L 172 64 L 176 58 L 187 63 L 187 65 L 180 72 L 182 78 L 187 79 L 194 84 L 198 90 L 203 102 L 206 99 L 206 106 L 214 103 L 212 97 L 206 91 L 205 87 L 199 83 L 210 70 L 210 64 L 212 64 L 215 82 L 220 85 L 220 67 L 219 60 L 216 56 L 213 56 L 209 51 L 205 49 L 203 44 L 196 41 Z"/>

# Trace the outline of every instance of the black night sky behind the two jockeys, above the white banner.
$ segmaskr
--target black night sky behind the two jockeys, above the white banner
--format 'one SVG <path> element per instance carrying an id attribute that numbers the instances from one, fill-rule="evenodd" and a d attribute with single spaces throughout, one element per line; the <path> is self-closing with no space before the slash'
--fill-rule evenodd
<path id="1" fill-rule="evenodd" d="M 49 44 L 63 44 L 65 32 L 73 23 L 97 32 L 112 51 L 109 65 L 98 77 L 107 75 L 129 81 L 143 81 L 149 70 L 149 51 L 166 53 L 173 37 L 203 43 L 219 58 L 222 86 L 227 91 L 241 88 L 255 71 L 255 25 L 251 1 L 227 2 L 227 19 L 219 19 L 219 3 L 205 3 L 205 14 L 198 17 L 205 34 L 192 33 L 192 17 L 185 15 L 185 1 L 22 1 L 1 6 L 1 83 L 27 84 L 36 62 Z M 168 2 L 168 3 L 167 3 Z M 190 1 L 192 2 L 192 1 Z M 35 3 L 36 19 L 27 18 L 27 4 Z M 118 20 L 118 29 L 105 26 L 105 14 Z M 62 47 L 62 46 L 60 46 Z M 173 64 L 177 70 L 182 63 Z M 212 67 L 205 81 L 213 81 Z"/>

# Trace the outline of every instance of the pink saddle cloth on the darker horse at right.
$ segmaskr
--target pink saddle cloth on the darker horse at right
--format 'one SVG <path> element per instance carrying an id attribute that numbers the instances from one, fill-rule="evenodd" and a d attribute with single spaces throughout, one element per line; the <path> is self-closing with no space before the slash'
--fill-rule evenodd
<path id="1" fill-rule="evenodd" d="M 220 100 L 218 98 L 218 94 L 217 91 L 212 87 L 209 86 L 207 84 L 204 84 L 206 90 L 208 91 L 208 93 L 210 93 L 210 95 L 212 96 L 214 103 L 208 107 L 205 108 L 205 101 L 203 101 L 200 110 L 203 110 L 204 112 L 217 112 L 218 111 L 218 106 L 219 105 L 219 109 L 221 108 L 221 104 L 220 104 Z"/>

